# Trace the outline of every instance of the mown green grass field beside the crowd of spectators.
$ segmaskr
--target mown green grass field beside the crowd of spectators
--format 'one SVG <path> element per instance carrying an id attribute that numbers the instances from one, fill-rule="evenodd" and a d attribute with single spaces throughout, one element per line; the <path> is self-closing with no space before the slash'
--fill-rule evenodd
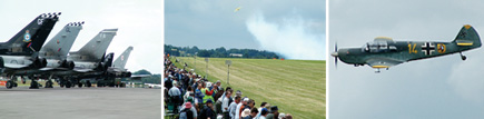
<path id="1" fill-rule="evenodd" d="M 205 58 L 177 57 L 171 61 L 178 68 L 188 65 L 200 76 L 206 75 Z M 226 60 L 231 60 L 229 85 L 227 85 Z M 290 113 L 296 119 L 326 118 L 326 62 L 314 60 L 275 60 L 243 58 L 209 58 L 208 80 L 221 81 L 235 90 L 243 91 L 256 101 L 277 106 L 279 112 Z"/>

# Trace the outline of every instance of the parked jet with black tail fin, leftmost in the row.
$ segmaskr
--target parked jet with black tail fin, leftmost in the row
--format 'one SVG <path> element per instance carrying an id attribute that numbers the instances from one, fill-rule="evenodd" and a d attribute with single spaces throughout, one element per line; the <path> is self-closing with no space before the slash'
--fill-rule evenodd
<path id="1" fill-rule="evenodd" d="M 17 70 L 39 69 L 47 65 L 46 59 L 38 57 L 53 26 L 58 21 L 59 13 L 43 13 L 33 19 L 20 32 L 9 41 L 0 43 L 0 69 L 2 76 L 10 77 Z M 8 80 L 7 88 L 17 86 L 13 80 Z"/>

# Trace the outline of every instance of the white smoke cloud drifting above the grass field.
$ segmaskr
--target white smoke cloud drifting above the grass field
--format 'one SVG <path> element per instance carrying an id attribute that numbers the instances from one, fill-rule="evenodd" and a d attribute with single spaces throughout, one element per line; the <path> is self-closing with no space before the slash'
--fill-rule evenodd
<path id="1" fill-rule="evenodd" d="M 283 18 L 281 22 L 267 22 L 263 13 L 256 13 L 247 19 L 246 26 L 265 50 L 280 53 L 286 59 L 325 59 L 324 32 L 309 32 L 309 24 L 298 16 Z"/>

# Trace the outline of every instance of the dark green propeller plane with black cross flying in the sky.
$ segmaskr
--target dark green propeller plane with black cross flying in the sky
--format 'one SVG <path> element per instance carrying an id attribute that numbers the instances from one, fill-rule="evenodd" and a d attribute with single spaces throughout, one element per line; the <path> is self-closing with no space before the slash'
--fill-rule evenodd
<path id="1" fill-rule="evenodd" d="M 373 42 L 365 43 L 362 48 L 343 48 L 332 53 L 337 60 L 355 67 L 368 65 L 379 72 L 379 69 L 408 62 L 413 60 L 434 58 L 452 53 L 461 53 L 462 60 L 466 57 L 463 51 L 480 48 L 481 39 L 476 30 L 465 24 L 457 37 L 451 42 L 441 41 L 394 41 L 392 38 L 377 37 Z"/>

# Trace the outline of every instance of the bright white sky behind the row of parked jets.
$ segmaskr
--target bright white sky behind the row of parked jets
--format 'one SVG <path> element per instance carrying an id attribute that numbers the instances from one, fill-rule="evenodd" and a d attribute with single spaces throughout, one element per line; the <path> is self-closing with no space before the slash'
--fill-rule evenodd
<path id="1" fill-rule="evenodd" d="M 62 12 L 50 40 L 69 22 L 85 21 L 71 51 L 79 50 L 102 29 L 118 28 L 108 48 L 115 58 L 129 46 L 134 50 L 126 68 L 161 72 L 162 8 L 160 0 L 9 0 L 0 1 L 0 41 L 7 41 L 37 16 Z M 46 42 L 47 42 L 46 41 Z"/>

